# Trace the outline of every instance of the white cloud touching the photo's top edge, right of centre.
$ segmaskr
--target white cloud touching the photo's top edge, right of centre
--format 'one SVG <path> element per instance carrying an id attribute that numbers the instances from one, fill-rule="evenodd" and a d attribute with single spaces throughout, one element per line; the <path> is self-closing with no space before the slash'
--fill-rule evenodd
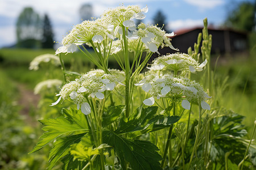
<path id="1" fill-rule="evenodd" d="M 224 0 L 184 0 L 185 2 L 197 6 L 200 9 L 215 8 L 224 4 Z"/>

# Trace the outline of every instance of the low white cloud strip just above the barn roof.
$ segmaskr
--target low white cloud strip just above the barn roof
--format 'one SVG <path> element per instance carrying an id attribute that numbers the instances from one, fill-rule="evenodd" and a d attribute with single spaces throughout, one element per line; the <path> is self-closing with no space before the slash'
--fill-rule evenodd
<path id="1" fill-rule="evenodd" d="M 178 29 L 181 28 L 193 28 L 193 27 L 199 27 L 203 26 L 203 19 L 185 19 L 185 20 L 172 20 L 171 22 L 168 23 L 168 28 L 177 31 Z"/>

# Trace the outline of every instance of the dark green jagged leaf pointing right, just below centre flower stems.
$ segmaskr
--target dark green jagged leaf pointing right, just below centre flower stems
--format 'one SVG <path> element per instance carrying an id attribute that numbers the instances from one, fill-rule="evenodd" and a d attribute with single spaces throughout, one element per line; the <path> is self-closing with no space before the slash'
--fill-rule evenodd
<path id="1" fill-rule="evenodd" d="M 115 133 L 129 133 L 129 137 L 134 138 L 151 131 L 168 128 L 180 120 L 179 116 L 155 115 L 157 110 L 158 107 L 137 108 L 129 118 L 121 118 Z"/>

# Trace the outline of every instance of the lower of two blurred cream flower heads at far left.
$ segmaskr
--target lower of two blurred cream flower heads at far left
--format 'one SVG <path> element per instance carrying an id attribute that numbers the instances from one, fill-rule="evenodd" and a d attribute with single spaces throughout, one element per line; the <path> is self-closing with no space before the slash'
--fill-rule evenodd
<path id="1" fill-rule="evenodd" d="M 44 87 L 46 88 L 52 88 L 52 87 L 55 87 L 55 88 L 58 88 L 60 87 L 62 84 L 62 81 L 61 80 L 58 80 L 58 79 L 48 79 L 48 80 L 45 80 L 43 82 L 40 82 L 38 84 L 36 84 L 35 88 L 34 88 L 34 94 L 39 94 L 40 92 L 42 92 L 44 90 Z"/>

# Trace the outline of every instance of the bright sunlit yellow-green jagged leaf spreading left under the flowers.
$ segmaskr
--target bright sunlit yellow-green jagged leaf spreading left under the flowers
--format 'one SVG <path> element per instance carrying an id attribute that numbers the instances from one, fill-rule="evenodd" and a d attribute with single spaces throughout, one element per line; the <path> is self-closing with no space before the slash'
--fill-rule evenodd
<path id="1" fill-rule="evenodd" d="M 81 134 L 89 131 L 88 122 L 81 111 L 72 108 L 63 109 L 63 116 L 54 119 L 39 120 L 44 125 L 43 130 L 46 132 L 39 138 L 40 141 L 29 154 L 40 150 L 60 135 L 69 135 L 71 133 Z"/>

